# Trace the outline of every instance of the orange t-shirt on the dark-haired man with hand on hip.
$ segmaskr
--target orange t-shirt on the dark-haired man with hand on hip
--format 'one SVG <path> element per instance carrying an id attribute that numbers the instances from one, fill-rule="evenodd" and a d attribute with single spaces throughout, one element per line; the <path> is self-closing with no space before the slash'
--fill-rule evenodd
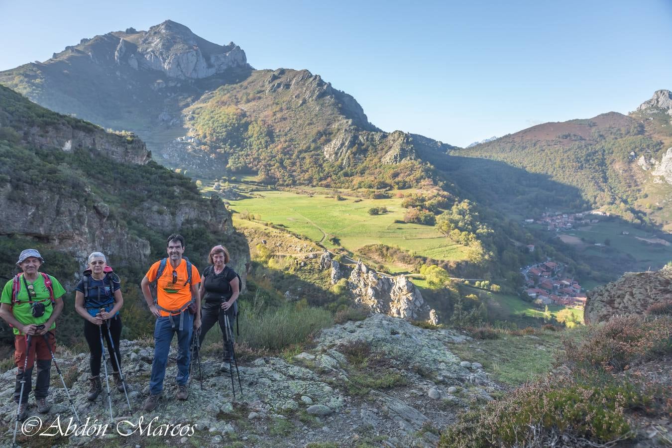
<path id="1" fill-rule="evenodd" d="M 161 261 L 154 263 L 145 274 L 150 282 L 154 281 L 157 277 L 159 264 L 161 264 Z M 177 281 L 175 283 L 173 283 L 173 271 L 177 273 Z M 182 259 L 177 269 L 173 269 L 170 260 L 167 260 L 161 278 L 157 281 L 157 303 L 159 306 L 166 310 L 179 310 L 192 300 L 191 286 L 189 283 L 185 285 L 186 281 L 187 262 Z M 198 273 L 198 269 L 192 264 L 192 284 L 198 285 L 200 282 L 201 276 Z M 168 313 L 163 310 L 159 310 L 159 313 L 161 313 L 161 316 L 168 316 Z"/>

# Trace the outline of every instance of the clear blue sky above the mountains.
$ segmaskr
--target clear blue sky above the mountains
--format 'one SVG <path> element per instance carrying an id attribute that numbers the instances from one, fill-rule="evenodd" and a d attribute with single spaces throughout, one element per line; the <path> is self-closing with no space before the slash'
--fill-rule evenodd
<path id="1" fill-rule="evenodd" d="M 308 69 L 369 120 L 450 144 L 627 113 L 672 89 L 672 1 L 7 1 L 0 70 L 172 19 L 257 69 Z"/>

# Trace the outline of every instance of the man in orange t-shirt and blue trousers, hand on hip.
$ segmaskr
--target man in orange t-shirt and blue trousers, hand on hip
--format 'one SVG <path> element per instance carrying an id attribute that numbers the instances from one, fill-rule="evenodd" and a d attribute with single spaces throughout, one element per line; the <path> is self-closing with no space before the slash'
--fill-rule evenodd
<path id="1" fill-rule="evenodd" d="M 149 310 L 157 317 L 154 326 L 154 361 L 149 380 L 150 395 L 144 402 L 144 410 L 157 407 L 163 391 L 163 378 L 168 363 L 168 351 L 177 333 L 177 399 L 186 400 L 189 364 L 191 362 L 190 343 L 194 328 L 201 326 L 201 298 L 198 283 L 201 281 L 198 269 L 186 258 L 184 238 L 181 235 L 168 237 L 168 258 L 157 261 L 142 279 L 142 294 Z M 152 298 L 149 285 L 155 284 L 157 300 Z M 179 322 L 178 322 L 179 321 Z"/>

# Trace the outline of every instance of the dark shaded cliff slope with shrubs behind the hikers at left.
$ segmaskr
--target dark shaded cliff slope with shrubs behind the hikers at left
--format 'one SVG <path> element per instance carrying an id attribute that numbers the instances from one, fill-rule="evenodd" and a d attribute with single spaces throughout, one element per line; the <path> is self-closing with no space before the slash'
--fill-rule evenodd
<path id="1" fill-rule="evenodd" d="M 157 249 L 151 241 L 181 230 L 239 240 L 222 202 L 151 162 L 133 134 L 105 132 L 5 87 L 0 106 L 0 234 L 34 238 L 79 260 L 103 251 L 117 265 L 146 264 Z M 244 266 L 247 244 L 237 246 Z"/>

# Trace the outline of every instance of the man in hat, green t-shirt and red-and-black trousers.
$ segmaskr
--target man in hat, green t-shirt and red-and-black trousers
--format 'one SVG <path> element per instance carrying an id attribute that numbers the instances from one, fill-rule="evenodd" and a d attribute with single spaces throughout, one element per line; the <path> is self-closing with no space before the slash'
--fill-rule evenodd
<path id="1" fill-rule="evenodd" d="M 51 350 L 56 349 L 54 329 L 56 318 L 63 310 L 62 296 L 65 289 L 51 275 L 40 272 L 44 259 L 35 249 L 26 249 L 19 255 L 16 265 L 23 271 L 7 281 L 0 297 L 0 317 L 14 330 L 14 362 L 18 367 L 14 401 L 19 403 L 21 382 L 26 377 L 26 388 L 20 399 L 19 416 L 26 418 L 28 394 L 32 388 L 32 372 L 37 357 L 37 380 L 35 400 L 38 412 L 48 412 L 51 404 L 46 401 L 49 393 L 49 374 L 51 369 Z M 40 328 L 40 326 L 42 326 Z M 32 335 L 30 347 L 26 349 L 26 335 Z M 28 356 L 28 365 L 26 365 Z M 24 371 L 26 365 L 26 371 Z"/>

